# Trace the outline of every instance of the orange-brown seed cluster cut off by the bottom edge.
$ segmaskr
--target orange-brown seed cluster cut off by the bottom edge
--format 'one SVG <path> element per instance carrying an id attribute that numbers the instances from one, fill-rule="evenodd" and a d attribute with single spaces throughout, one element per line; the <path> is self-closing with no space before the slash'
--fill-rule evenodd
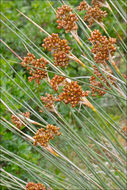
<path id="1" fill-rule="evenodd" d="M 46 190 L 46 187 L 41 183 L 29 182 L 26 184 L 26 190 Z"/>

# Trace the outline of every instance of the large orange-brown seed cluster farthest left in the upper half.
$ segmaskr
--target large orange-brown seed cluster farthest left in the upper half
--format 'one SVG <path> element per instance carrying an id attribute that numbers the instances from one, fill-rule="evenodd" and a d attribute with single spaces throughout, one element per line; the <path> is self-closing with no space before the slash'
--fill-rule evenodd
<path id="1" fill-rule="evenodd" d="M 29 74 L 31 75 L 28 77 L 28 80 L 30 82 L 32 80 L 35 80 L 38 84 L 40 84 L 40 80 L 47 78 L 47 72 L 40 70 L 46 69 L 47 64 L 48 62 L 43 57 L 36 59 L 35 56 L 31 53 L 28 53 L 27 57 L 24 57 L 23 61 L 21 62 L 21 65 L 23 67 L 26 67 L 26 69 L 29 71 Z"/>

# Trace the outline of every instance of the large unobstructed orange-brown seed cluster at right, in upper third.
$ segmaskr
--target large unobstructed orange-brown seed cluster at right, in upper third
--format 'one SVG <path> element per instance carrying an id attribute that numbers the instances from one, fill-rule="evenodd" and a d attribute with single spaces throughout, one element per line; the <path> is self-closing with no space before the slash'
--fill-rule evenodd
<path id="1" fill-rule="evenodd" d="M 93 44 L 92 53 L 94 54 L 94 60 L 96 63 L 106 64 L 109 60 L 109 56 L 113 56 L 116 51 L 114 44 L 116 43 L 115 38 L 102 36 L 99 30 L 91 32 L 90 42 Z"/>

